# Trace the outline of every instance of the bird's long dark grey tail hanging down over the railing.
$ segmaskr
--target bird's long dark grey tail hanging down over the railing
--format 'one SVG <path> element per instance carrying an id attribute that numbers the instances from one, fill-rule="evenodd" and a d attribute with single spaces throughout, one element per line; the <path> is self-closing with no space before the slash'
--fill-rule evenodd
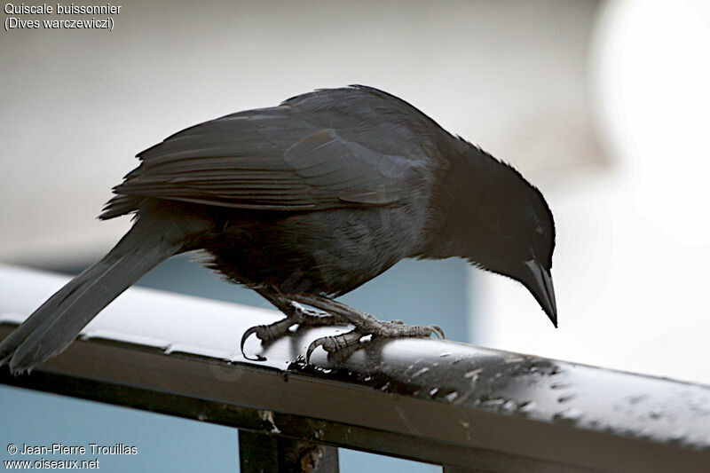
<path id="1" fill-rule="evenodd" d="M 63 351 L 107 304 L 155 265 L 182 250 L 184 232 L 169 221 L 138 218 L 99 263 L 59 289 L 0 343 L 0 366 L 13 374 Z"/>

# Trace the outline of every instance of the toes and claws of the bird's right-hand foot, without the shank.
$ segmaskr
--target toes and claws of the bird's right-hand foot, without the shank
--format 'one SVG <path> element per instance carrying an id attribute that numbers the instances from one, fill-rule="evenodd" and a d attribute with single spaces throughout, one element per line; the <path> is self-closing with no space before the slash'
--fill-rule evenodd
<path id="1" fill-rule="evenodd" d="M 336 351 L 355 351 L 353 350 L 361 343 L 360 340 L 367 335 L 400 338 L 400 337 L 416 337 L 428 338 L 431 335 L 437 335 L 438 338 L 445 338 L 444 331 L 441 327 L 435 325 L 405 325 L 401 320 L 392 320 L 391 322 L 381 322 L 380 320 L 367 320 L 362 327 L 355 328 L 350 332 L 341 335 L 323 336 L 314 340 L 306 351 L 305 361 L 309 363 L 312 352 L 318 347 L 323 347 L 323 350 L 328 353 Z"/>

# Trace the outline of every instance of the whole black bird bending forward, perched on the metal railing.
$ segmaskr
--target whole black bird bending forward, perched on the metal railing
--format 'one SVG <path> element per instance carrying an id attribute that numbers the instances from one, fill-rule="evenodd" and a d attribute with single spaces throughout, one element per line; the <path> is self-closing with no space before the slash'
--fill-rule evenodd
<path id="1" fill-rule="evenodd" d="M 64 350 L 143 274 L 193 250 L 286 314 L 250 328 L 242 346 L 248 335 L 269 340 L 295 324 L 355 327 L 314 341 L 309 355 L 364 335 L 443 336 L 332 299 L 407 257 L 460 256 L 518 280 L 557 325 L 555 226 L 540 191 L 386 92 L 313 91 L 195 125 L 138 158 L 99 217 L 135 213 L 134 225 L 0 343 L 12 373 Z"/>

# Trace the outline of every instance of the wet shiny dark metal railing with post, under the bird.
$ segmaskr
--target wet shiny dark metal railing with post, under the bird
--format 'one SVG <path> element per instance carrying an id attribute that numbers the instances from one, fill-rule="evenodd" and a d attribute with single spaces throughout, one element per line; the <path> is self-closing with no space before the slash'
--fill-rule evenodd
<path id="1" fill-rule="evenodd" d="M 0 266 L 0 338 L 65 280 Z M 331 328 L 250 340 L 265 360 L 244 358 L 241 333 L 279 318 L 130 289 L 66 352 L 0 382 L 232 426 L 242 471 L 336 471 L 339 446 L 446 472 L 710 471 L 710 387 L 436 340 L 306 365 Z"/>

